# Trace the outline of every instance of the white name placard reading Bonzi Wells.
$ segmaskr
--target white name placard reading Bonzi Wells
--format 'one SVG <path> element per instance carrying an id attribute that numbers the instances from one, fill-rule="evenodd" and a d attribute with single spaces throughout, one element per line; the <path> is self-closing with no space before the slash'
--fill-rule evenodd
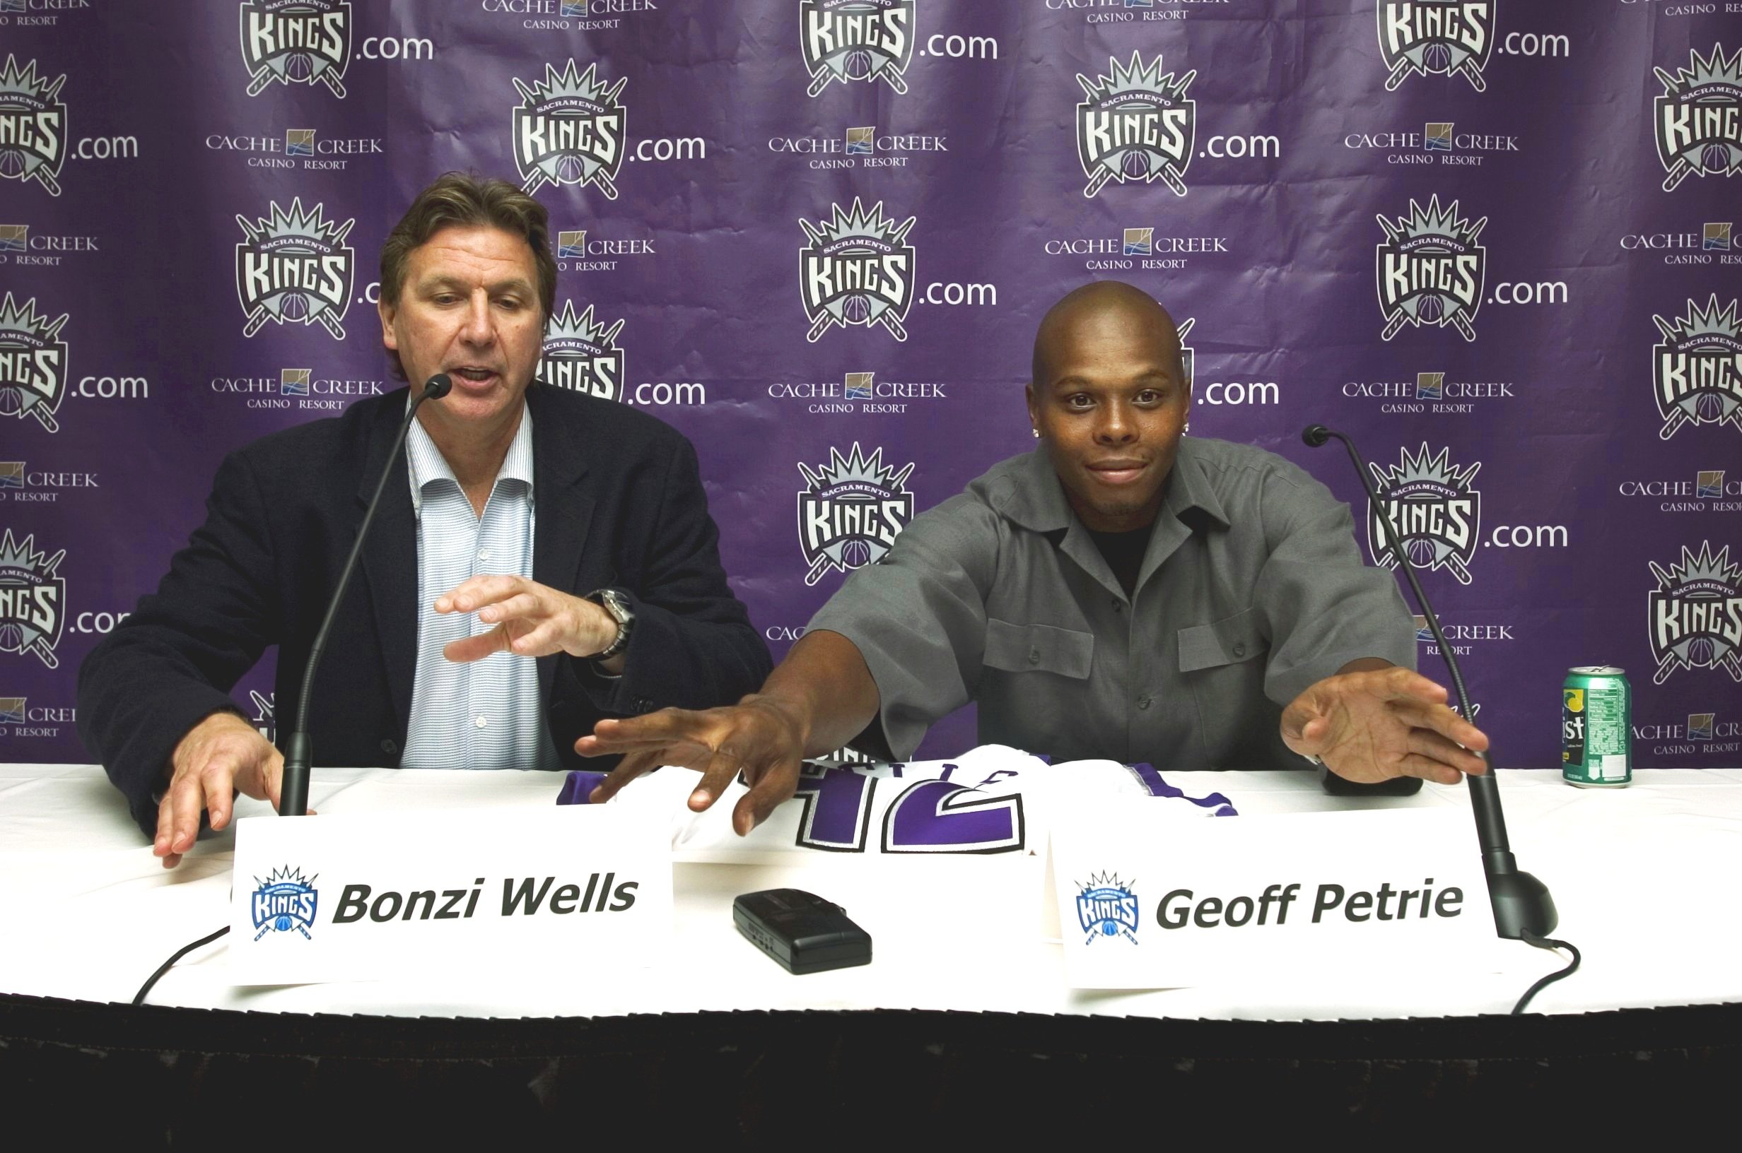
<path id="1" fill-rule="evenodd" d="M 671 833 L 617 805 L 237 822 L 232 984 L 645 965 Z"/>

